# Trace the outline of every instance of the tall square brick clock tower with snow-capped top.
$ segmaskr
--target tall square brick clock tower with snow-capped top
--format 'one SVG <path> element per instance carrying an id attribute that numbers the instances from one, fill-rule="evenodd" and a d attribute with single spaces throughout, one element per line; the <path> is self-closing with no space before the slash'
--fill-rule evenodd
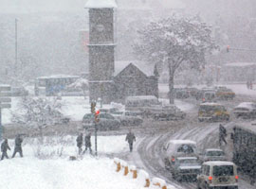
<path id="1" fill-rule="evenodd" d="M 115 0 L 88 0 L 89 9 L 89 96 L 90 101 L 101 98 L 113 100 L 114 91 L 114 9 Z"/>

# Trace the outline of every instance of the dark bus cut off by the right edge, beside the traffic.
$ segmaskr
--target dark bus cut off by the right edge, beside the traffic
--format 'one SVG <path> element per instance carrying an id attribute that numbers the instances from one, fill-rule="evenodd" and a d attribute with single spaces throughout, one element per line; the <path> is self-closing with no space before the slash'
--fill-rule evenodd
<path id="1" fill-rule="evenodd" d="M 241 123 L 233 128 L 233 162 L 250 178 L 256 178 L 256 123 Z"/>

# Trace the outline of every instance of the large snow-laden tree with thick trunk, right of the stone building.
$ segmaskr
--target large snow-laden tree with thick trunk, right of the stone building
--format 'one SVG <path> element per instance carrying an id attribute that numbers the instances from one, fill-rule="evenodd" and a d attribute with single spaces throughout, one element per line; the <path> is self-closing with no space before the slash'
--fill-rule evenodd
<path id="1" fill-rule="evenodd" d="M 199 69 L 215 48 L 210 27 L 199 18 L 170 18 L 140 29 L 134 51 L 138 59 L 168 66 L 170 103 L 174 103 L 174 73 L 181 65 Z"/>

